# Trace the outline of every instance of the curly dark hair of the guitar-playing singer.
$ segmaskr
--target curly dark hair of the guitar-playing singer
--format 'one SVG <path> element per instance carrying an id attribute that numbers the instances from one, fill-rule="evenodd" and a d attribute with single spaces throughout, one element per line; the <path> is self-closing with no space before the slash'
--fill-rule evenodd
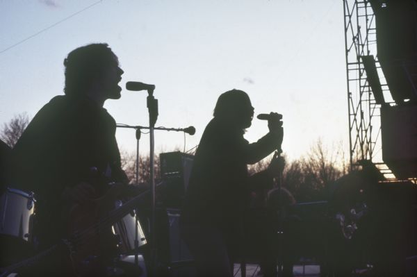
<path id="1" fill-rule="evenodd" d="M 88 44 L 74 49 L 64 60 L 65 94 L 85 94 L 99 74 L 118 64 L 117 56 L 106 43 Z"/>

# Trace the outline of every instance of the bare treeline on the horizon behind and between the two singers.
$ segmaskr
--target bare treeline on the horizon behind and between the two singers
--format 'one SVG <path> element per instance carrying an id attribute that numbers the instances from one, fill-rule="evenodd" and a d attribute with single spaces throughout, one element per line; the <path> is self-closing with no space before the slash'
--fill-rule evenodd
<path id="1" fill-rule="evenodd" d="M 178 151 L 175 149 L 174 151 Z M 130 183 L 136 183 L 136 152 L 121 151 L 122 167 L 126 171 Z M 255 165 L 249 166 L 250 174 L 267 168 L 270 158 L 265 158 Z M 284 158 L 286 158 L 284 156 Z M 161 180 L 160 161 L 154 157 L 155 176 Z M 148 183 L 150 176 L 149 156 L 140 156 L 139 181 Z M 327 148 L 322 140 L 317 140 L 308 153 L 296 160 L 286 158 L 282 174 L 282 184 L 295 196 L 297 202 L 322 201 L 329 198 L 334 181 L 348 173 L 348 163 L 343 155 L 342 146 Z"/>

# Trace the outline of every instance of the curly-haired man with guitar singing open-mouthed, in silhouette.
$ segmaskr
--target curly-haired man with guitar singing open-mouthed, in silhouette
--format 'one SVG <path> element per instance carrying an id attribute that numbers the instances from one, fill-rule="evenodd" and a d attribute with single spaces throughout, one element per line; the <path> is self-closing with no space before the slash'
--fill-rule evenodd
<path id="1" fill-rule="evenodd" d="M 41 250 L 68 233 L 65 208 L 87 207 L 106 192 L 106 184 L 92 183 L 92 174 L 126 181 L 115 120 L 103 108 L 104 101 L 121 96 L 117 56 L 108 44 L 89 44 L 70 52 L 64 66 L 65 95 L 55 96 L 35 115 L 13 149 L 16 182 L 37 199 L 35 233 Z M 55 269 L 41 269 L 45 274 L 65 268 L 59 262 L 47 267 Z"/>

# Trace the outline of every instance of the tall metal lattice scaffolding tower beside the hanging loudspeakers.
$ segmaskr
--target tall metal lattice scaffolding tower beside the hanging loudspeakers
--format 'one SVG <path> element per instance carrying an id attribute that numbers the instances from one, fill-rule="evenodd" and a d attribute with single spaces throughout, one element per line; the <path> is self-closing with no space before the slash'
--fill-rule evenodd
<path id="1" fill-rule="evenodd" d="M 366 57 L 375 58 L 378 75 L 384 74 L 377 60 L 375 15 L 369 1 L 343 0 L 343 10 L 352 169 L 362 160 L 377 164 L 382 162 L 380 105 L 375 101 L 371 76 L 368 76 L 363 60 Z M 386 81 L 379 81 L 383 84 L 380 85 L 382 92 L 388 91 Z"/>

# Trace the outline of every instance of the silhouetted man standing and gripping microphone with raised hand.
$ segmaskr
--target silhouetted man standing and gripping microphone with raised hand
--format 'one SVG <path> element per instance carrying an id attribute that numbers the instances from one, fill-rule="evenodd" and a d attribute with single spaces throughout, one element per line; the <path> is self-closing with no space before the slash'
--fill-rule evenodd
<path id="1" fill-rule="evenodd" d="M 254 108 L 245 92 L 224 92 L 195 154 L 181 214 L 181 235 L 194 255 L 198 276 L 233 276 L 247 192 L 258 184 L 272 186 L 276 159 L 254 176 L 248 175 L 247 165 L 281 148 L 281 115 L 271 112 L 269 133 L 250 144 L 243 135 L 253 116 Z M 268 274 L 273 271 L 276 266 Z"/>

